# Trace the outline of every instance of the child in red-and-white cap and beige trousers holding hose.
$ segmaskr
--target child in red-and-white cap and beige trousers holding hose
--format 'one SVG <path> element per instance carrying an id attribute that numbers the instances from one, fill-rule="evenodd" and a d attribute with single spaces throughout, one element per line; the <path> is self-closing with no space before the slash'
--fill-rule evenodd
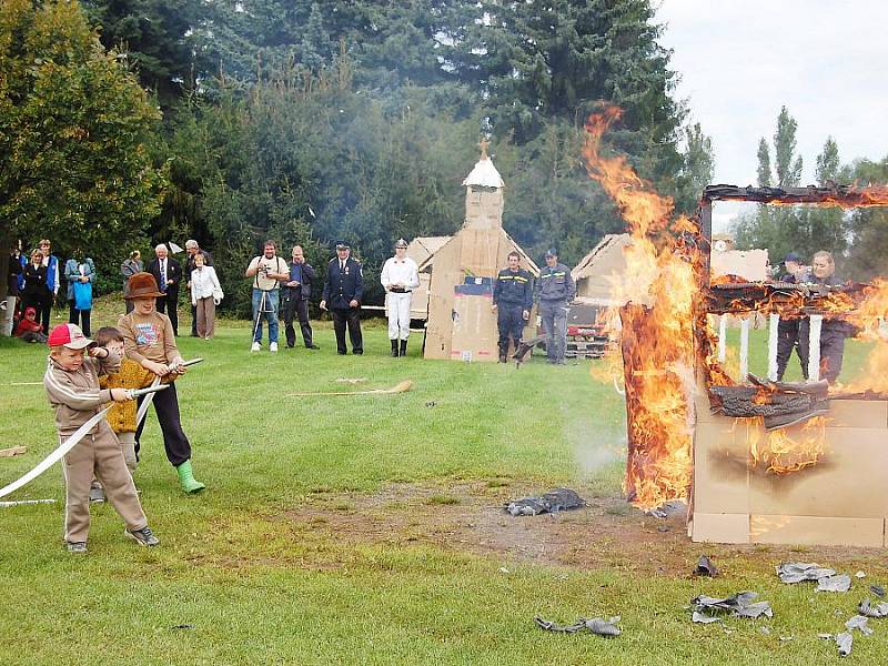
<path id="1" fill-rule="evenodd" d="M 103 403 L 132 401 L 132 395 L 124 389 L 99 389 L 99 374 L 115 372 L 120 367 L 120 356 L 114 352 L 95 346 L 74 324 L 59 324 L 50 333 L 48 342 L 50 355 L 43 386 L 56 410 L 56 428 L 61 441 L 98 414 Z M 64 541 L 70 553 L 87 552 L 89 491 L 93 475 L 102 481 L 108 498 L 123 518 L 124 534 L 143 546 L 160 543 L 148 527 L 120 442 L 105 420 L 99 421 L 68 452 L 62 470 L 65 485 Z"/>

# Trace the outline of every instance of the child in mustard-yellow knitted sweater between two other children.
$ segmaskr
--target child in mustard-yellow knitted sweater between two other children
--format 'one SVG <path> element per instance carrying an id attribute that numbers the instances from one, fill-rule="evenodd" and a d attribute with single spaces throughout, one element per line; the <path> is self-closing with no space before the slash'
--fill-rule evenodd
<path id="1" fill-rule="evenodd" d="M 99 376 L 101 389 L 143 389 L 150 386 L 154 379 L 153 373 L 149 372 L 135 361 L 123 357 L 123 335 L 113 326 L 104 326 L 95 332 L 95 343 L 114 352 L 120 356 L 120 370 L 108 375 Z M 127 461 L 127 468 L 130 474 L 135 472 L 138 457 L 135 455 L 135 403 L 128 401 L 114 403 L 105 415 L 108 424 L 120 441 L 123 451 L 123 460 Z M 98 478 L 93 478 L 90 486 L 90 502 L 104 502 L 104 491 Z"/>

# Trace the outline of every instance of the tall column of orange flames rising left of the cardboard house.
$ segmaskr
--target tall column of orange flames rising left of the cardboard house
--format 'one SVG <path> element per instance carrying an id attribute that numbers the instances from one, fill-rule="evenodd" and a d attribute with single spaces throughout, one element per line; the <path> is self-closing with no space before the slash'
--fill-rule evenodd
<path id="1" fill-rule="evenodd" d="M 583 151 L 589 175 L 616 202 L 633 236 L 626 274 L 612 297 L 619 309 L 629 453 L 624 490 L 642 508 L 686 500 L 692 481 L 688 384 L 694 367 L 695 266 L 672 221 L 673 201 L 657 194 L 623 157 L 599 153 L 601 139 L 620 115 L 608 108 L 586 123 Z M 613 313 L 612 313 L 613 314 Z"/>

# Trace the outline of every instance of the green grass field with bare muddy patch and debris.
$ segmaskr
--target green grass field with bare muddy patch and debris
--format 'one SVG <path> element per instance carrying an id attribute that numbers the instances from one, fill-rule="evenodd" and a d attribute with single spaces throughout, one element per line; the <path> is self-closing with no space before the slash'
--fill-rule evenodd
<path id="1" fill-rule="evenodd" d="M 588 362 L 432 362 L 415 342 L 394 360 L 379 324 L 365 329 L 363 357 L 336 356 L 327 324 L 320 352 L 250 354 L 245 326 L 180 339 L 185 357 L 205 359 L 179 384 L 205 493 L 179 491 L 149 415 L 137 484 L 160 547 L 124 539 L 100 505 L 89 554 L 69 555 L 58 466 L 14 495 L 56 504 L 0 508 L 0 663 L 827 664 L 838 655 L 817 634 L 840 630 L 866 586 L 888 583 L 881 552 L 700 546 L 680 518 L 626 508 L 623 401 Z M 753 349 L 763 372 L 760 332 Z M 849 374 L 864 352 L 849 344 Z M 0 485 L 54 446 L 42 387 L 10 385 L 39 382 L 44 356 L 0 340 L 0 442 L 29 446 L 0 458 Z M 405 379 L 415 387 L 397 395 L 289 395 Z M 558 485 L 592 507 L 555 518 L 498 509 Z M 689 575 L 703 553 L 722 577 Z M 818 595 L 777 581 L 787 558 L 867 578 Z M 770 601 L 775 617 L 692 624 L 692 597 L 743 589 Z M 548 634 L 534 615 L 620 615 L 624 633 Z M 856 636 L 849 660 L 888 662 L 878 623 Z"/>

